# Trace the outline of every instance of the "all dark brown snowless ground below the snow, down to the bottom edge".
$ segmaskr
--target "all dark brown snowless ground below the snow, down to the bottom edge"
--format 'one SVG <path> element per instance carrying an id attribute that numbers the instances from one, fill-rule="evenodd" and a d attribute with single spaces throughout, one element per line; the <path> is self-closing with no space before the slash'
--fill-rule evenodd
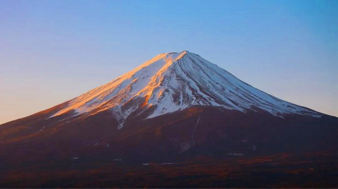
<path id="1" fill-rule="evenodd" d="M 66 103 L 0 125 L 0 187 L 338 187 L 337 117 L 194 106 L 120 130 L 110 111 L 47 119 Z"/>

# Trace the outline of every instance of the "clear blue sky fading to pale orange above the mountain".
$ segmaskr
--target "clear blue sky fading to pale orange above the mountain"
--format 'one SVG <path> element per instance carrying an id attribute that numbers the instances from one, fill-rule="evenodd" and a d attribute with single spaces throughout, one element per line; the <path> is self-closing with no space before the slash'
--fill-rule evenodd
<path id="1" fill-rule="evenodd" d="M 0 123 L 189 50 L 338 116 L 338 1 L 0 1 Z"/>

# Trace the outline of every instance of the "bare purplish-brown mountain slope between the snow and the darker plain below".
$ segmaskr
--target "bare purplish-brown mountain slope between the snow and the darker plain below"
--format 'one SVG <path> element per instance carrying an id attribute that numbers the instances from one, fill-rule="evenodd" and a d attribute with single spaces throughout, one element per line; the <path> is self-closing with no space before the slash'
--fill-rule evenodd
<path id="1" fill-rule="evenodd" d="M 96 156 L 160 161 L 195 155 L 334 154 L 337 149 L 337 118 L 331 116 L 281 118 L 266 112 L 194 106 L 154 118 L 142 117 L 129 117 L 120 130 L 110 111 L 72 121 L 55 120 L 53 124 L 46 120 L 26 126 L 22 120 L 11 122 L 0 128 L 1 155 L 6 164 L 15 164 L 16 160 Z"/>

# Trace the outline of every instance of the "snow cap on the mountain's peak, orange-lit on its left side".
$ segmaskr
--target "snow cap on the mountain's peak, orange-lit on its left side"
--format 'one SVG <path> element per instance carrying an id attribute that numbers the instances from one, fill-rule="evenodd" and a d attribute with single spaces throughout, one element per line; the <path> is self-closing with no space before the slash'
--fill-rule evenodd
<path id="1" fill-rule="evenodd" d="M 121 108 L 132 100 L 138 103 Z M 161 53 L 131 72 L 70 100 L 53 116 L 72 110 L 78 115 L 110 109 L 121 128 L 126 117 L 141 106 L 155 106 L 148 116 L 151 118 L 193 105 L 221 106 L 243 112 L 262 109 L 280 117 L 288 113 L 321 116 L 260 91 L 188 51 Z"/>

